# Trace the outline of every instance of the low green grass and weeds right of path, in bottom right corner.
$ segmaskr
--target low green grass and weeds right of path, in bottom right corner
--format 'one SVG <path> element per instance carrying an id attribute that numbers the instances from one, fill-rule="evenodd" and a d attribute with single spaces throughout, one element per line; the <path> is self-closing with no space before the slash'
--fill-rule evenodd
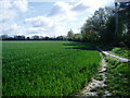
<path id="1" fill-rule="evenodd" d="M 115 63 L 113 63 L 115 62 Z M 108 60 L 106 89 L 112 96 L 130 96 L 130 63 Z"/>

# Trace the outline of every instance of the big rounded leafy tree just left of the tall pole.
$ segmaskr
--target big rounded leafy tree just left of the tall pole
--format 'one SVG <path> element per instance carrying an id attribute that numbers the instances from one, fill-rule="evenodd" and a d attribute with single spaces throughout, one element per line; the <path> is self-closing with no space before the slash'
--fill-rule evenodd
<path id="1" fill-rule="evenodd" d="M 94 15 L 89 17 L 84 25 L 81 27 L 81 34 L 83 36 L 83 40 L 90 42 L 110 42 L 109 39 L 105 39 L 108 35 L 110 35 L 110 28 L 107 26 L 114 20 L 114 9 L 113 8 L 105 8 L 99 9 L 94 12 Z M 115 28 L 114 28 L 115 29 Z M 107 32 L 109 30 L 109 32 Z M 113 32 L 114 33 L 114 32 Z M 110 38 L 110 37 L 109 37 Z M 105 39 L 105 40 L 104 40 Z"/>

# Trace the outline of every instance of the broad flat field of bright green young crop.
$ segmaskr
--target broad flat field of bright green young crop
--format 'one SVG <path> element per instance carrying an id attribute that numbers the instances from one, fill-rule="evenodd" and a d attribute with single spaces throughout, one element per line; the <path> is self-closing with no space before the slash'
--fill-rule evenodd
<path id="1" fill-rule="evenodd" d="M 70 41 L 3 41 L 3 96 L 73 96 L 100 68 L 93 46 Z"/>

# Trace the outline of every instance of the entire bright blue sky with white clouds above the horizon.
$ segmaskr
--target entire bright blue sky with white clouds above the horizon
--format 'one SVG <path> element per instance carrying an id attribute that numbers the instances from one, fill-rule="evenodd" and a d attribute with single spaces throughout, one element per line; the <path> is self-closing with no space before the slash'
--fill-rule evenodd
<path id="1" fill-rule="evenodd" d="M 66 36 L 114 0 L 0 0 L 0 35 Z"/>

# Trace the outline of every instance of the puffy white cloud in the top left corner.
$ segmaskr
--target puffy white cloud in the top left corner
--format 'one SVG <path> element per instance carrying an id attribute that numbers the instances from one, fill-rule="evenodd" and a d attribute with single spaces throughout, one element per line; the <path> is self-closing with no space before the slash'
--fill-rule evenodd
<path id="1" fill-rule="evenodd" d="M 26 0 L 13 2 L 11 0 L 1 0 L 0 9 L 0 22 L 5 22 L 15 19 L 20 12 L 26 12 L 28 10 L 28 3 Z"/>

